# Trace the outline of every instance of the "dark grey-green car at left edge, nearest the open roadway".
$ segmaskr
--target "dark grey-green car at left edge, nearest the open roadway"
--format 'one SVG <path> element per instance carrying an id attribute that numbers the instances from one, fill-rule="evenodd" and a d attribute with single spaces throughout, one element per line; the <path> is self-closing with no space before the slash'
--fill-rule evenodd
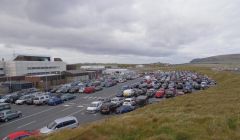
<path id="1" fill-rule="evenodd" d="M 19 118 L 22 116 L 21 111 L 15 111 L 15 110 L 4 110 L 0 112 L 0 120 L 1 121 L 9 121 L 15 118 Z"/>

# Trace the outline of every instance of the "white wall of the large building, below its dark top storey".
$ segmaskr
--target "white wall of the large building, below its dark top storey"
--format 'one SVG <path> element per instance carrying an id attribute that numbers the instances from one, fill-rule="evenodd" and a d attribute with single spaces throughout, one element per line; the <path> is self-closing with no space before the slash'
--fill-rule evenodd
<path id="1" fill-rule="evenodd" d="M 8 76 L 44 74 L 66 71 L 66 63 L 52 61 L 9 61 L 6 62 Z"/>

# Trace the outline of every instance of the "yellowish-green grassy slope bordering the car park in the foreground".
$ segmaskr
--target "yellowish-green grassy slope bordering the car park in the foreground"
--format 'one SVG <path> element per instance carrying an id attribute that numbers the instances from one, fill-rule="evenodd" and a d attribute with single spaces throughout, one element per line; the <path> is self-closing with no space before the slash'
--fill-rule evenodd
<path id="1" fill-rule="evenodd" d="M 178 69 L 207 74 L 218 84 L 126 115 L 30 140 L 239 140 L 240 75 L 199 67 Z"/>

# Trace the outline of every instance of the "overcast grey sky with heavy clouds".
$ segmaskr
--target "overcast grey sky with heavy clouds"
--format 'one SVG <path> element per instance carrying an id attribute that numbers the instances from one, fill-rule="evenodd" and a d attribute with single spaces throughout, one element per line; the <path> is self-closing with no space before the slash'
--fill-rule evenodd
<path id="1" fill-rule="evenodd" d="M 184 63 L 240 53 L 240 0 L 0 0 L 0 57 Z"/>

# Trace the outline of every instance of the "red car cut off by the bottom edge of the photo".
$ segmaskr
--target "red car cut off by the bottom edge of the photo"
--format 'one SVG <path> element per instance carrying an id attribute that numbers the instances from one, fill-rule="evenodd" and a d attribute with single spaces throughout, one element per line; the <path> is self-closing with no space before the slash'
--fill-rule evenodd
<path id="1" fill-rule="evenodd" d="M 18 132 L 8 134 L 2 140 L 21 140 L 34 135 L 37 135 L 37 133 L 29 132 L 29 131 L 18 131 Z"/>

